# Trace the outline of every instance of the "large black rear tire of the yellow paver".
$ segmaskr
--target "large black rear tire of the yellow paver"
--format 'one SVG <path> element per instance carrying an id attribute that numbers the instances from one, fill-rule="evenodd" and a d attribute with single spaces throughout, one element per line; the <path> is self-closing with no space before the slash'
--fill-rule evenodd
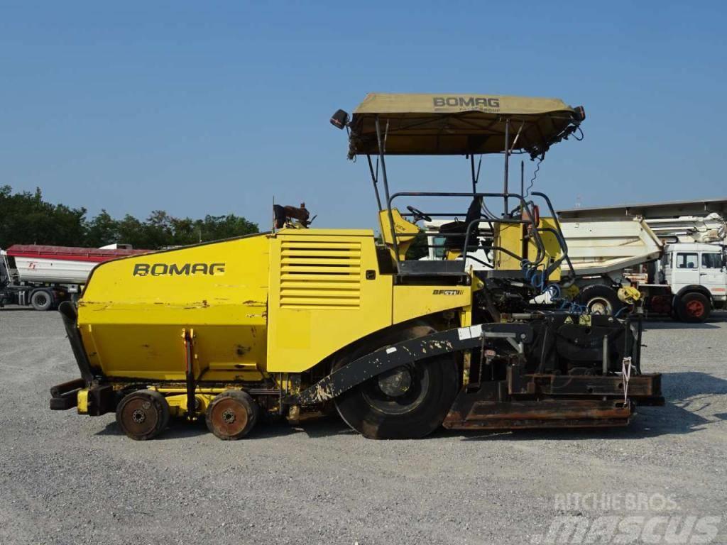
<path id="1" fill-rule="evenodd" d="M 387 344 L 434 330 L 417 327 Z M 334 368 L 369 350 L 357 350 Z M 457 397 L 459 374 L 452 355 L 441 355 L 374 376 L 334 399 L 341 418 L 369 439 L 419 439 L 441 426 Z"/>

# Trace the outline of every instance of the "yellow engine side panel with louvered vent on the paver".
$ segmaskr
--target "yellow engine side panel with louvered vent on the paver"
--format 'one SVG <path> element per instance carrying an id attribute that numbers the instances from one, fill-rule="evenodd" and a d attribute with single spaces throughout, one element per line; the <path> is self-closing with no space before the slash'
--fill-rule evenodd
<path id="1" fill-rule="evenodd" d="M 270 241 L 268 371 L 298 373 L 391 325 L 374 233 L 286 230 Z"/>

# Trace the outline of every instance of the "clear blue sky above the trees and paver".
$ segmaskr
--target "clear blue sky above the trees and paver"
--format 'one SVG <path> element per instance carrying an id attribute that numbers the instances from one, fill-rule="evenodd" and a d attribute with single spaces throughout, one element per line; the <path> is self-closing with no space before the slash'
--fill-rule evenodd
<path id="1" fill-rule="evenodd" d="M 537 180 L 560 208 L 727 197 L 726 5 L 0 1 L 0 184 L 262 228 L 274 196 L 371 227 L 367 167 L 331 113 L 366 92 L 474 92 L 585 106 L 585 140 Z M 464 158 L 389 166 L 402 190 L 469 185 Z M 481 187 L 501 171 L 486 158 Z"/>

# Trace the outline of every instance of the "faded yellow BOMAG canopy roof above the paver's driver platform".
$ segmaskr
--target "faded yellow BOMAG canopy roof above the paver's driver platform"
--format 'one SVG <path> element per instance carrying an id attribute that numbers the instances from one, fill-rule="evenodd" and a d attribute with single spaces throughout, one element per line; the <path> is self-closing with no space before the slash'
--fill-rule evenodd
<path id="1" fill-rule="evenodd" d="M 585 114 L 555 98 L 370 93 L 353 111 L 350 158 L 379 153 L 377 117 L 391 155 L 502 153 L 510 120 L 513 152 L 538 156 L 574 132 Z"/>

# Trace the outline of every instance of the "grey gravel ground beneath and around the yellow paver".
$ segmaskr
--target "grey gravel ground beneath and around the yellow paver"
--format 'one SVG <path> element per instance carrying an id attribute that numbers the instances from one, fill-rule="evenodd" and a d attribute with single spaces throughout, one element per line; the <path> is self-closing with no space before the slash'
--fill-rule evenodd
<path id="1" fill-rule="evenodd" d="M 722 517 L 727 543 L 727 315 L 644 342 L 667 405 L 623 429 L 371 441 L 331 418 L 223 442 L 178 422 L 136 442 L 112 414 L 49 411 L 78 376 L 60 317 L 0 310 L 0 544 L 519 545 L 564 514 L 623 517 L 604 498 L 630 494 L 676 505 L 647 517 Z M 601 503 L 563 505 L 578 493 Z"/>

